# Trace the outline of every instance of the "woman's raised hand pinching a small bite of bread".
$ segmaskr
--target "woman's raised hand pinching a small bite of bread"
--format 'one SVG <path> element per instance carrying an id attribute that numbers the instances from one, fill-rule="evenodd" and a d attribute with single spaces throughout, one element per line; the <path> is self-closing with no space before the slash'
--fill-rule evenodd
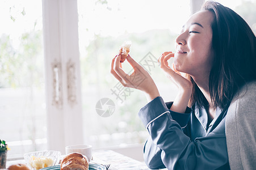
<path id="1" fill-rule="evenodd" d="M 145 92 L 149 101 L 160 96 L 154 80 L 139 63 L 130 55 L 127 56 L 127 61 L 134 70 L 133 73 L 129 75 L 121 68 L 120 58 L 121 55 L 119 54 L 112 59 L 110 72 L 124 87 L 132 87 Z"/>

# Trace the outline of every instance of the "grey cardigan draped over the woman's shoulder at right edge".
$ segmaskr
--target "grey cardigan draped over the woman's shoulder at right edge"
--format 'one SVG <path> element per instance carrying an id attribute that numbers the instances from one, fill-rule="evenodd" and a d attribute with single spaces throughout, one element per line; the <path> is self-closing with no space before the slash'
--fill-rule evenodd
<path id="1" fill-rule="evenodd" d="M 231 169 L 255 169 L 256 82 L 246 84 L 226 114 L 226 144 Z"/>

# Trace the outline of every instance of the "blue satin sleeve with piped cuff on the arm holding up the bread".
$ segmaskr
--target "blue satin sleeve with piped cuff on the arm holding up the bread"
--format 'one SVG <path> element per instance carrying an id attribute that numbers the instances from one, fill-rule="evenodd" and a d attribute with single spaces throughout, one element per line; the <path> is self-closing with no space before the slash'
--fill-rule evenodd
<path id="1" fill-rule="evenodd" d="M 191 141 L 173 120 L 162 97 L 141 108 L 139 117 L 150 135 L 144 146 L 150 169 L 217 169 L 228 162 L 225 135 L 213 131 Z"/>

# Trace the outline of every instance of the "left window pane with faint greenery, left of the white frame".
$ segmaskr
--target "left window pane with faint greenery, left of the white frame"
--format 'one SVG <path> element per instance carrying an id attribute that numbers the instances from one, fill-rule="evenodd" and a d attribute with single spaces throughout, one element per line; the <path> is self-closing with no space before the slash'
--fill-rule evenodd
<path id="1" fill-rule="evenodd" d="M 47 149 L 41 1 L 0 2 L 0 134 L 9 155 Z"/>

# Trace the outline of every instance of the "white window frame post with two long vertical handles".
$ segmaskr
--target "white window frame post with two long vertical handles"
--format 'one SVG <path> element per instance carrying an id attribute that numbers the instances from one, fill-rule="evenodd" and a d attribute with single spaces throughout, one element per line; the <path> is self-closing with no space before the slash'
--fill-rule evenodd
<path id="1" fill-rule="evenodd" d="M 83 143 L 77 1 L 42 0 L 42 7 L 47 143 L 64 154 Z"/>

